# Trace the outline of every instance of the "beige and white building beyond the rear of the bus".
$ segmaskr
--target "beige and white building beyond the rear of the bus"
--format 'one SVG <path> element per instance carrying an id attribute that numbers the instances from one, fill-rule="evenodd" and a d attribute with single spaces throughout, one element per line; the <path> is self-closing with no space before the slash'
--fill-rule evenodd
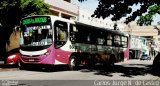
<path id="1" fill-rule="evenodd" d="M 128 25 L 124 25 L 123 32 L 131 35 L 130 37 L 130 51 L 135 52 L 134 56 L 131 58 L 140 57 L 142 50 L 145 50 L 146 54 L 151 54 L 154 50 L 159 50 L 160 48 L 160 36 L 158 36 L 158 30 L 154 26 L 138 26 L 136 22 L 131 22 Z M 133 37 L 134 36 L 134 37 Z M 143 38 L 143 39 L 142 39 Z M 158 41 L 159 39 L 159 41 Z M 135 41 L 133 41 L 135 40 Z M 139 42 L 141 40 L 142 42 Z M 143 47 L 138 47 L 138 45 L 143 44 L 143 40 L 146 41 L 146 45 Z M 137 44 L 135 46 L 134 44 Z"/>

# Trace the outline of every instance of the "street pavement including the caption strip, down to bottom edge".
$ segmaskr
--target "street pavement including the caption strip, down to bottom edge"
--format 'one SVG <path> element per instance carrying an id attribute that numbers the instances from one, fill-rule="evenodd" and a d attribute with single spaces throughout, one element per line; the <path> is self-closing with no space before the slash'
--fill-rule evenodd
<path id="1" fill-rule="evenodd" d="M 106 69 L 103 69 L 102 66 L 97 66 L 92 70 L 82 68 L 76 71 L 69 71 L 59 67 L 51 72 L 46 72 L 42 69 L 19 70 L 18 68 L 0 68 L 0 80 L 2 80 L 3 84 L 8 82 L 16 84 L 18 82 L 20 86 L 102 86 L 102 84 L 98 83 L 99 80 L 107 80 L 107 82 L 108 80 L 112 82 L 113 80 L 160 80 L 160 76 L 151 72 L 152 63 L 153 59 L 144 61 L 134 59 L 116 63 L 114 67 Z M 108 83 L 111 84 L 110 82 Z M 159 86 L 160 82 L 156 85 Z M 155 84 L 151 86 L 155 86 Z"/>

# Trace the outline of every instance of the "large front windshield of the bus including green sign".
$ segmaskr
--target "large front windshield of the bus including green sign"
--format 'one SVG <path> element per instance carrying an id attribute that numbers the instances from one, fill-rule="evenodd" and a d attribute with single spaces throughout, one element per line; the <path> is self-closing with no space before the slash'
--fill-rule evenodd
<path id="1" fill-rule="evenodd" d="M 21 21 L 21 47 L 46 46 L 52 44 L 51 20 L 49 17 L 28 17 Z"/>

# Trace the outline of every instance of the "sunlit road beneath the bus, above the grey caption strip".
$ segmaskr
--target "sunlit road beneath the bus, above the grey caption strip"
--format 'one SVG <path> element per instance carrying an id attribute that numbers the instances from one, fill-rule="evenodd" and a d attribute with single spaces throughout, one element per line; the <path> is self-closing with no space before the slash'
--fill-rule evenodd
<path id="1" fill-rule="evenodd" d="M 115 67 L 110 69 L 109 71 L 103 70 L 101 66 L 98 66 L 94 70 L 88 70 L 84 68 L 77 71 L 69 71 L 58 68 L 56 71 L 52 72 L 44 72 L 43 70 L 39 69 L 19 70 L 18 68 L 0 68 L 0 79 L 31 80 L 31 82 L 32 80 L 42 80 L 42 82 L 44 82 L 44 80 L 47 80 L 48 82 L 46 81 L 46 83 L 48 84 L 50 80 L 56 80 L 58 84 L 60 84 L 60 81 L 63 80 L 65 84 L 61 83 L 62 86 L 70 85 L 66 84 L 66 80 L 72 80 L 72 84 L 78 83 L 77 80 L 91 80 L 91 82 L 95 80 L 160 80 L 159 76 L 151 73 L 152 62 L 153 60 L 129 60 L 121 63 L 116 63 Z M 87 83 L 91 85 L 91 83 Z M 82 86 L 82 82 L 79 82 L 79 84 L 81 84 Z"/>

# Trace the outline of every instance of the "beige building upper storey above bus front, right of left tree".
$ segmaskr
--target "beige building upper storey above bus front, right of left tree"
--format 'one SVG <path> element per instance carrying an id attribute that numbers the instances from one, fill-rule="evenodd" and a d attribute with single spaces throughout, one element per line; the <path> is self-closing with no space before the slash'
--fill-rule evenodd
<path id="1" fill-rule="evenodd" d="M 67 19 L 76 19 L 79 14 L 79 7 L 72 4 L 72 0 L 45 0 L 50 5 L 52 15 Z"/>

